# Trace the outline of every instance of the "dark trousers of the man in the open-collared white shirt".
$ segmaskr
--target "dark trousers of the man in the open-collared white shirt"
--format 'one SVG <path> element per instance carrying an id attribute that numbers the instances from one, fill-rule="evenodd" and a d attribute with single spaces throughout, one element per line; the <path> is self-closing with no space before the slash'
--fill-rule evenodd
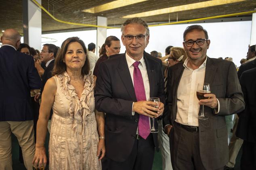
<path id="1" fill-rule="evenodd" d="M 170 153 L 173 170 L 206 170 L 200 157 L 198 132 L 189 132 L 174 123 L 170 132 Z"/>

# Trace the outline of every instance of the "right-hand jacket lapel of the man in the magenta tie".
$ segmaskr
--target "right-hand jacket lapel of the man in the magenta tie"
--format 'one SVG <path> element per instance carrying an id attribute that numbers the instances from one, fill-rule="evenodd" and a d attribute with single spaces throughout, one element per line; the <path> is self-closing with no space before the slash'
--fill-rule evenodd
<path id="1" fill-rule="evenodd" d="M 147 67 L 147 76 L 149 78 L 149 91 L 150 91 L 150 96 L 149 97 L 154 97 L 154 90 L 155 90 L 155 67 L 154 65 L 149 61 L 147 58 L 147 53 L 143 54 L 144 61 Z"/>

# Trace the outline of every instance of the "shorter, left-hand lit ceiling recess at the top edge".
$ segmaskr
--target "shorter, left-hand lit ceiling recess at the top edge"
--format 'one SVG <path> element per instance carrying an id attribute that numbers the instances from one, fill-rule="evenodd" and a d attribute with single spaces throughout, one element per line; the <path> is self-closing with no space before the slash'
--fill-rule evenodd
<path id="1" fill-rule="evenodd" d="M 83 10 L 83 12 L 88 12 L 88 13 L 94 14 L 94 13 L 103 12 L 103 11 L 111 10 L 111 9 L 115 9 L 115 8 L 120 8 L 122 6 L 136 4 L 136 3 L 144 2 L 144 1 L 147 1 L 147 0 L 115 0 L 115 1 L 109 2 L 107 4 L 103 4 L 100 6 L 95 6 L 93 8 Z"/>

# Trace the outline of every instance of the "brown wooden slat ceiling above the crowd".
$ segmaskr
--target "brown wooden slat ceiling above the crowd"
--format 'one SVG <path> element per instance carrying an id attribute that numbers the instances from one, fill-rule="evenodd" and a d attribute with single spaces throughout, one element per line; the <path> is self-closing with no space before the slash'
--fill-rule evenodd
<path id="1" fill-rule="evenodd" d="M 192 4 L 206 0 L 147 0 L 96 14 L 82 12 L 84 9 L 92 8 L 112 1 L 113 0 L 42 0 L 42 6 L 44 6 L 44 8 L 46 8 L 56 18 L 64 21 L 96 25 L 97 16 L 104 16 L 108 18 L 108 25 L 121 25 L 126 20 L 125 18 L 121 17 L 128 14 Z M 178 15 L 178 20 L 189 20 L 223 14 L 247 12 L 255 10 L 255 8 L 256 0 L 246 0 L 243 2 L 220 6 L 149 16 L 144 17 L 143 19 L 149 23 L 166 22 L 169 19 L 171 21 L 176 21 Z M 23 33 L 22 0 L 0 0 L 0 12 L 0 35 L 2 34 L 2 30 L 10 27 L 17 29 L 20 33 Z M 248 14 L 245 16 L 251 15 L 252 14 Z M 42 32 L 75 28 L 82 28 L 82 26 L 59 23 L 50 18 L 46 12 L 42 11 Z"/>

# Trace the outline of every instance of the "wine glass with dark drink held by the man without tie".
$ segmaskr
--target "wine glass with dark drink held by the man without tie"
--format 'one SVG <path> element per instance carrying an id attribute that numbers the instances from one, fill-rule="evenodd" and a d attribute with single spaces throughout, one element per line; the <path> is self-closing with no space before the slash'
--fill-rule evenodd
<path id="1" fill-rule="evenodd" d="M 208 99 L 209 97 L 205 97 L 204 94 L 209 94 L 210 91 L 210 84 L 209 83 L 198 83 L 197 85 L 197 98 L 198 100 Z M 202 106 L 201 114 L 198 115 L 198 119 L 208 119 L 207 116 L 204 115 L 204 104 Z"/>

